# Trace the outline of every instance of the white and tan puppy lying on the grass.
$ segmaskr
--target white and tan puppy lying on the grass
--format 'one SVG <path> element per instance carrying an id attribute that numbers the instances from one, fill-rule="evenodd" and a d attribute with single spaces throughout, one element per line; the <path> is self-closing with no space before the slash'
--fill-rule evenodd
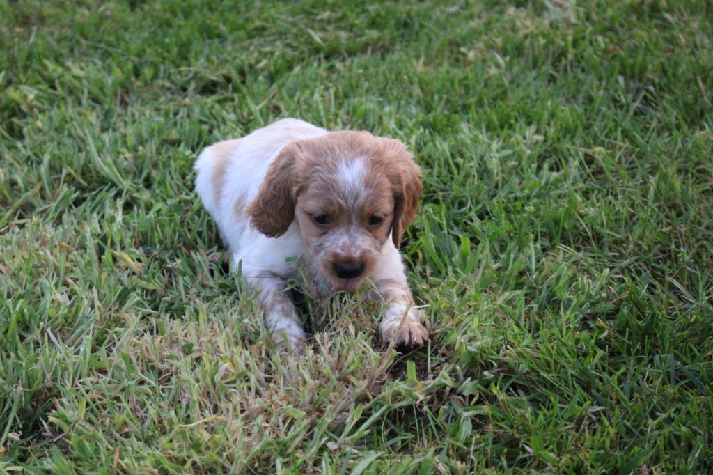
<path id="1" fill-rule="evenodd" d="M 215 143 L 195 163 L 195 188 L 232 254 L 232 268 L 258 291 L 275 342 L 304 340 L 285 280 L 302 257 L 322 292 L 353 292 L 367 279 L 386 302 L 381 335 L 423 344 L 399 255 L 416 216 L 421 170 L 403 143 L 368 132 L 327 132 L 283 119 Z"/>

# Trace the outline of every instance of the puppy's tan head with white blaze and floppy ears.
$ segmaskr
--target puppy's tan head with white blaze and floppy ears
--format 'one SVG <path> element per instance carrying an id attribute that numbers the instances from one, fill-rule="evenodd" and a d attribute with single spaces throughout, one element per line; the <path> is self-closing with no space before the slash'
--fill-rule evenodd
<path id="1" fill-rule="evenodd" d="M 381 248 L 399 247 L 416 217 L 421 170 L 403 143 L 366 132 L 332 132 L 286 145 L 247 210 L 268 237 L 296 219 L 307 257 L 353 291 L 374 272 Z"/>

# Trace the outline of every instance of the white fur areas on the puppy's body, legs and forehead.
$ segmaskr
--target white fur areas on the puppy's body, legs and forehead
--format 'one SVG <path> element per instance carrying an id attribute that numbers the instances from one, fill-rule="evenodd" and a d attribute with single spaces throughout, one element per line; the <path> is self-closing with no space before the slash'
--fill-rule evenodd
<path id="1" fill-rule="evenodd" d="M 296 277 L 295 262 L 289 258 L 305 257 L 304 244 L 296 220 L 286 233 L 270 238 L 250 225 L 246 208 L 255 199 L 270 163 L 284 145 L 326 133 L 324 129 L 304 121 L 283 119 L 237 141 L 205 148 L 194 167 L 198 172 L 195 181 L 198 195 L 215 219 L 232 253 L 232 267 L 241 265 L 242 276 L 252 288 L 260 291 L 258 298 L 265 309 L 266 325 L 276 341 L 287 337 L 289 343 L 295 344 L 304 339 L 297 313 L 284 292 L 284 281 Z M 220 155 L 220 150 L 223 155 Z M 225 150 L 230 150 L 227 157 Z M 222 166 L 225 170 L 222 174 L 218 173 L 222 178 L 218 193 L 215 168 L 220 166 L 220 160 L 224 160 Z M 364 158 L 345 158 L 339 165 L 336 179 L 340 180 L 345 190 L 363 194 L 365 167 Z M 349 246 L 348 240 L 344 245 Z M 328 282 L 319 282 L 319 272 L 315 272 L 314 280 L 329 287 Z M 381 249 L 371 280 L 377 286 L 381 281 L 386 282 L 375 293 L 375 296 L 381 296 L 389 303 L 381 324 L 384 338 L 394 342 L 422 342 L 427 332 L 420 323 L 419 310 L 414 308 L 401 255 L 391 239 L 386 240 Z"/>

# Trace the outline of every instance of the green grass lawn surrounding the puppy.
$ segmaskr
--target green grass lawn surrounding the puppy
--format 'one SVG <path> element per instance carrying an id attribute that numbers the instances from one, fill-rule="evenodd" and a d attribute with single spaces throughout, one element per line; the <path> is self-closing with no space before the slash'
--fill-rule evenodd
<path id="1" fill-rule="evenodd" d="M 0 0 L 0 471 L 713 471 L 709 2 L 98 3 Z M 416 153 L 425 347 L 208 262 L 288 116 Z"/>

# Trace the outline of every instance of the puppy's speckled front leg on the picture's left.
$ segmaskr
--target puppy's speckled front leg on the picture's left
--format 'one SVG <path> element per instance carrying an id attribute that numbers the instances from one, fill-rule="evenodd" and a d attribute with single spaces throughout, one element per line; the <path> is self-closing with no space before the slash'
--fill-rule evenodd
<path id="1" fill-rule="evenodd" d="M 265 326 L 272 332 L 272 341 L 277 344 L 287 344 L 299 347 L 304 343 L 302 322 L 294 310 L 292 297 L 285 291 L 284 280 L 270 272 L 257 272 L 246 276 L 248 285 L 257 290 L 265 312 Z"/>

